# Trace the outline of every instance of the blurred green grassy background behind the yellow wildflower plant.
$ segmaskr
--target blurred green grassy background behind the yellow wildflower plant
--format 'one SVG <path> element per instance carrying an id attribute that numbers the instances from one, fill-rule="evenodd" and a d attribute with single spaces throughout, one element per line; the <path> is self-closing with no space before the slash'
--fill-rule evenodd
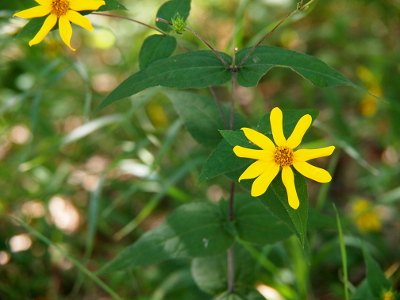
<path id="1" fill-rule="evenodd" d="M 115 14 L 154 26 L 164 1 L 121 2 L 129 11 Z M 9 215 L 94 272 L 175 207 L 226 197 L 228 180 L 196 186 L 210 151 L 194 142 L 157 88 L 89 120 L 101 100 L 139 70 L 140 47 L 154 31 L 91 15 L 93 32 L 73 25 L 76 52 L 58 31 L 31 48 L 28 40 L 14 39 L 26 20 L 12 15 L 34 5 L 0 2 L 0 299 L 111 299 Z M 254 45 L 295 7 L 292 0 L 194 0 L 188 24 L 232 54 L 234 47 Z M 178 41 L 189 50 L 206 49 L 188 32 Z M 383 99 L 350 87 L 315 88 L 276 68 L 257 88 L 238 87 L 236 108 L 253 126 L 275 106 L 321 111 L 304 146 L 334 144 L 337 150 L 317 161 L 333 181 L 308 181 L 310 206 L 331 216 L 332 203 L 338 206 L 354 286 L 365 277 L 361 239 L 400 288 L 400 1 L 316 1 L 264 44 L 316 56 Z M 226 87 L 216 92 L 229 101 Z M 310 224 L 310 265 L 293 239 L 260 249 L 276 266 L 256 268 L 257 287 L 268 299 L 343 299 L 337 231 L 319 219 Z M 101 278 L 126 299 L 210 298 L 196 287 L 188 260 Z"/>

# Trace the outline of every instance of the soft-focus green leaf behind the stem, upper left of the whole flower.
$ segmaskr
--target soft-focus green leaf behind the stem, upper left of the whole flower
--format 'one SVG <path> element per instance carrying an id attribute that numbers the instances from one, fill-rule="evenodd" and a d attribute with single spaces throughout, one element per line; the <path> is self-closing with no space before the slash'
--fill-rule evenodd
<path id="1" fill-rule="evenodd" d="M 186 91 L 165 90 L 191 136 L 205 147 L 215 148 L 222 140 L 218 130 L 225 128 L 221 112 L 213 98 Z M 229 124 L 230 110 L 222 107 Z M 249 126 L 246 119 L 235 113 L 235 128 Z"/>

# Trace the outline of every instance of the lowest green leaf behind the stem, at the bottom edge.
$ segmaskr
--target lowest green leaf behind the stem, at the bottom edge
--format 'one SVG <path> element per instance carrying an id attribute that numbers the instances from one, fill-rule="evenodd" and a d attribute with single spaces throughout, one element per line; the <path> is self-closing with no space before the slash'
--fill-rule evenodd
<path id="1" fill-rule="evenodd" d="M 256 260 L 240 244 L 233 247 L 235 286 L 250 285 L 255 280 Z M 226 253 L 192 260 L 191 271 L 197 286 L 211 295 L 222 293 L 228 286 L 228 264 Z"/>

